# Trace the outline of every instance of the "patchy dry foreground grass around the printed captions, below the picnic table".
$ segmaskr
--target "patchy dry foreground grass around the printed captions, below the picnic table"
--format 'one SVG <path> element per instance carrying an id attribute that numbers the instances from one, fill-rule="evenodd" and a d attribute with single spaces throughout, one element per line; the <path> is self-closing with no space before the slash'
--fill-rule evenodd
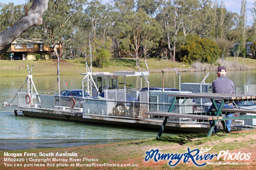
<path id="1" fill-rule="evenodd" d="M 123 167 L 121 169 L 124 170 L 162 170 L 162 169 L 172 169 L 168 165 L 168 160 L 159 160 L 158 162 L 153 161 L 152 159 L 149 161 L 145 161 L 146 151 L 150 151 L 152 149 L 159 149 L 160 153 L 187 153 L 188 148 L 192 149 L 201 149 L 202 148 L 210 148 L 212 149 L 207 152 L 207 154 L 218 154 L 220 151 L 229 150 L 229 153 L 237 153 L 241 151 L 241 153 L 248 153 L 250 151 L 254 151 L 255 148 L 255 138 L 256 131 L 248 131 L 248 132 L 238 132 L 225 134 L 222 132 L 216 133 L 212 135 L 210 138 L 206 138 L 206 133 L 196 133 L 196 134 L 182 134 L 179 136 L 163 136 L 160 139 L 144 139 L 144 140 L 136 140 L 136 141 L 125 141 L 118 143 L 110 143 L 110 144 L 98 144 L 98 145 L 86 145 L 79 147 L 70 147 L 70 148 L 46 148 L 46 149 L 34 149 L 34 150 L 19 150 L 19 151 L 0 151 L 0 157 L 4 157 L 4 152 L 9 153 L 37 153 L 37 155 L 42 153 L 77 153 L 77 157 L 74 158 L 88 158 L 88 159 L 98 159 L 98 161 L 70 161 L 69 157 L 57 157 L 57 158 L 68 158 L 67 164 L 69 167 L 64 167 L 63 169 L 113 169 L 119 170 L 120 167 L 70 167 L 71 164 L 81 163 L 81 164 L 138 164 L 138 167 Z M 27 158 L 27 157 L 17 157 L 17 158 Z M 36 157 L 36 158 L 46 158 L 46 157 Z M 202 170 L 213 170 L 213 169 L 255 169 L 255 156 L 251 156 L 250 166 L 246 165 L 205 165 L 200 167 Z M 182 159 L 183 161 L 183 159 Z M 177 164 L 175 169 L 187 170 L 187 169 L 198 169 L 199 167 L 195 166 L 193 163 L 182 163 L 182 161 Z M 199 163 L 209 162 L 208 160 L 202 160 Z M 223 160 L 223 158 L 216 160 L 213 159 L 210 162 L 237 162 L 237 160 L 228 161 Z M 246 162 L 246 161 L 244 161 Z M 0 169 L 10 169 L 14 170 L 15 167 L 7 168 L 4 166 L 4 160 L 0 159 Z M 47 163 L 52 164 L 64 164 L 65 162 L 53 162 L 48 161 Z M 47 164 L 43 163 L 43 164 Z M 12 163 L 14 164 L 14 163 Z M 27 163 L 22 164 L 34 164 L 33 161 L 28 161 Z M 42 163 L 40 163 L 42 164 Z M 47 167 L 49 168 L 49 167 Z M 45 168 L 45 169 L 47 169 Z M 34 169 L 34 167 L 30 168 Z M 43 168 L 40 168 L 43 169 Z M 51 167 L 51 170 L 58 170 L 59 168 Z"/>

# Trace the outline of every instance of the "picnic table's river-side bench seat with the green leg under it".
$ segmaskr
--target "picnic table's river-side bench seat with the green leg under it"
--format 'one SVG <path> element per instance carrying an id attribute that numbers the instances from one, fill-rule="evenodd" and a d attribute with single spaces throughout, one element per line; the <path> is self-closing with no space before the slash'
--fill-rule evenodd
<path id="1" fill-rule="evenodd" d="M 221 116 L 209 116 L 209 115 L 196 115 L 196 114 L 182 114 L 182 113 L 171 113 L 171 112 L 145 112 L 147 115 L 155 115 L 155 116 L 164 116 L 164 120 L 162 126 L 158 132 L 156 139 L 160 138 L 164 127 L 167 123 L 168 117 L 176 117 L 176 118 L 189 118 L 189 119 L 197 119 L 197 120 L 221 120 Z"/>

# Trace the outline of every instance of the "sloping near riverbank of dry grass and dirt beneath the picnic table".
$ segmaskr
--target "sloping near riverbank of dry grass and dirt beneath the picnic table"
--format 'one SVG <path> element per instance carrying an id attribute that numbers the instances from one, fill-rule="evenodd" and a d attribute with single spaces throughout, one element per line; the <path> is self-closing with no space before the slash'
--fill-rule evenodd
<path id="1" fill-rule="evenodd" d="M 232 132 L 230 134 L 219 132 L 212 135 L 210 138 L 206 138 L 205 136 L 206 133 L 197 133 L 179 135 L 175 137 L 163 136 L 158 140 L 146 139 L 70 148 L 0 151 L 0 169 L 42 170 L 50 168 L 51 170 L 163 170 L 171 168 L 172 166 L 168 164 L 174 165 L 177 162 L 177 156 L 183 157 L 175 166 L 173 166 L 173 168 L 180 170 L 195 170 L 199 168 L 200 170 L 256 169 L 256 130 Z M 174 154 L 173 157 L 171 156 L 171 158 L 173 158 L 173 162 L 171 161 L 171 158 L 166 158 L 165 160 L 163 158 L 163 160 L 159 160 L 158 156 L 154 156 L 154 160 L 153 156 L 150 157 L 146 154 L 150 151 L 150 153 L 152 153 L 152 150 L 156 151 L 157 149 L 161 155 L 168 153 Z M 190 152 L 191 155 L 196 155 L 196 151 L 202 151 L 202 149 L 207 150 L 201 154 L 201 158 L 197 157 L 196 160 L 195 156 L 194 161 L 192 159 L 188 161 L 184 158 L 184 153 Z M 192 150 L 195 151 L 192 152 Z M 26 152 L 31 155 L 25 155 Z M 6 156 L 4 155 L 5 153 Z M 225 157 L 225 153 L 227 153 L 227 157 Z M 12 154 L 16 157 L 11 156 Z M 206 157 L 204 157 L 204 155 Z M 230 155 L 230 157 L 228 157 L 228 155 Z M 220 157 L 218 158 L 218 156 Z M 4 161 L 4 158 L 8 157 L 15 158 L 20 161 Z M 9 167 L 7 167 L 7 164 Z M 16 164 L 16 166 L 19 164 L 20 167 L 14 167 L 14 164 Z M 201 167 L 198 166 L 202 164 L 205 165 Z M 57 165 L 59 167 L 56 167 Z"/>

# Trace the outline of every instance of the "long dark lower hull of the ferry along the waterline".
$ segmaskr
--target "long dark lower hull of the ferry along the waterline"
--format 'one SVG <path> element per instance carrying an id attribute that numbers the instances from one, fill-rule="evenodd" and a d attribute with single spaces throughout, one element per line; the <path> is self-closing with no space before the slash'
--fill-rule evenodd
<path id="1" fill-rule="evenodd" d="M 115 117 L 115 116 L 105 116 L 105 115 L 94 115 L 94 114 L 82 114 L 73 113 L 75 115 L 70 115 L 67 113 L 55 114 L 54 112 L 35 112 L 35 111 L 22 111 L 25 116 L 46 118 L 46 119 L 56 119 L 56 120 L 68 120 L 68 121 L 79 121 L 93 124 L 106 124 L 111 126 L 121 126 L 121 127 L 132 127 L 141 128 L 144 130 L 155 130 L 159 131 L 162 126 L 163 120 L 148 120 L 141 118 L 126 118 L 126 117 Z M 234 130 L 241 131 L 244 128 L 236 128 Z M 167 123 L 164 131 L 169 132 L 208 132 L 209 125 L 203 124 L 175 124 Z"/>

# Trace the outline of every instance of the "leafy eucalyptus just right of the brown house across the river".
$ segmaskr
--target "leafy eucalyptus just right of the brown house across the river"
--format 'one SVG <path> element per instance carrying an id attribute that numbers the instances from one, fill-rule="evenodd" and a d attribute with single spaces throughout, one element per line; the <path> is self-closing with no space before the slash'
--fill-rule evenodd
<path id="1" fill-rule="evenodd" d="M 71 41 L 78 29 L 78 16 L 81 15 L 86 0 L 51 0 L 44 16 L 43 36 L 54 47 L 56 57 L 62 58 L 63 45 Z M 57 51 L 59 45 L 59 51 Z"/>

